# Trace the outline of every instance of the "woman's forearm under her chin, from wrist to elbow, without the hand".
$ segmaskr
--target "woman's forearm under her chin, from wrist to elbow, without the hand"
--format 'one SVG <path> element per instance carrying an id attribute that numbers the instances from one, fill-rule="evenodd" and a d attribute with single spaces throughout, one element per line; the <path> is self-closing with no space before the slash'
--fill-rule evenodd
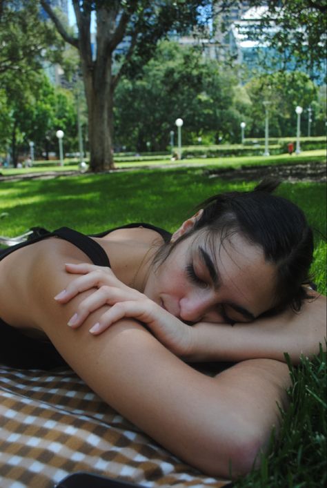
<path id="1" fill-rule="evenodd" d="M 185 357 L 196 361 L 241 361 L 268 358 L 293 364 L 301 354 L 308 357 L 326 347 L 326 297 L 306 302 L 299 313 L 292 310 L 250 324 L 196 324 L 192 328 L 192 347 Z"/>

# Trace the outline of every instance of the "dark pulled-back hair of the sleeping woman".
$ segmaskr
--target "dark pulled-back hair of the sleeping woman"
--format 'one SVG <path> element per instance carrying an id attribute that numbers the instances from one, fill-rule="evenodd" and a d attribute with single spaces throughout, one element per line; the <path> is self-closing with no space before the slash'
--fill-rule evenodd
<path id="1" fill-rule="evenodd" d="M 269 313 L 291 305 L 295 311 L 308 298 L 308 276 L 313 261 L 313 231 L 301 209 L 288 199 L 273 195 L 279 182 L 266 179 L 253 191 L 221 193 L 210 197 L 198 208 L 203 213 L 190 231 L 184 233 L 166 252 L 190 235 L 204 230 L 212 235 L 241 233 L 259 245 L 265 259 L 277 267 L 275 306 Z M 161 254 L 162 256 L 162 254 Z"/>

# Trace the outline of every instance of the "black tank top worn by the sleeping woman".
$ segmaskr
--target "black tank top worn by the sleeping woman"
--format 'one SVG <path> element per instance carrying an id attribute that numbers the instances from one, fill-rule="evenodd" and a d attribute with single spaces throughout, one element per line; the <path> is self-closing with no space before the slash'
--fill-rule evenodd
<path id="1" fill-rule="evenodd" d="M 81 234 L 68 227 L 61 227 L 56 231 L 49 232 L 44 228 L 33 228 L 32 237 L 26 242 L 11 246 L 0 251 L 0 260 L 8 256 L 17 249 L 39 242 L 47 237 L 59 237 L 60 239 L 71 242 L 85 253 L 93 264 L 97 266 L 109 266 L 110 261 L 103 248 L 90 237 L 103 237 L 112 231 L 120 228 L 144 227 L 155 231 L 163 237 L 164 242 L 169 242 L 171 234 L 164 229 L 152 226 L 151 224 L 128 224 L 126 226 L 115 227 L 109 231 L 90 236 Z M 21 333 L 0 318 L 0 362 L 8 366 L 24 369 L 52 369 L 55 367 L 66 366 L 66 362 L 61 358 L 57 349 L 54 348 L 49 340 L 30 338 Z"/>

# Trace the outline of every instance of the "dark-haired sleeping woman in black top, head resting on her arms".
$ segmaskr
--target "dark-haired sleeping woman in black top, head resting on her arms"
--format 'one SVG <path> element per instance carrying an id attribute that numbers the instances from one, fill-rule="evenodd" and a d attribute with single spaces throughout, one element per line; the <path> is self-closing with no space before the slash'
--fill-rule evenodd
<path id="1" fill-rule="evenodd" d="M 3 251 L 1 362 L 69 364 L 190 465 L 246 474 L 287 407 L 284 352 L 297 363 L 325 336 L 312 232 L 273 189 L 216 195 L 173 235 L 61 228 Z M 230 364 L 192 367 L 208 361 Z"/>

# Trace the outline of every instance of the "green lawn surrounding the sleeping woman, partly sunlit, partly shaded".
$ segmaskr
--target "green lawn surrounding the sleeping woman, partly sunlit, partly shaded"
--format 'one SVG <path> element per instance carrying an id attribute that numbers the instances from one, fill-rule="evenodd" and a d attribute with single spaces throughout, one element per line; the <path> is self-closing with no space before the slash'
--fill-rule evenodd
<path id="1" fill-rule="evenodd" d="M 0 234 L 14 236 L 31 226 L 63 225 L 96 233 L 129 222 L 151 222 L 173 231 L 213 193 L 254 186 L 255 182 L 210 179 L 199 166 L 0 182 Z M 326 293 L 326 184 L 283 183 L 277 193 L 299 204 L 315 229 L 312 271 L 319 291 Z M 326 354 L 321 352 L 313 361 L 304 358 L 290 373 L 290 409 L 283 413 L 281 436 L 272 440 L 261 469 L 239 480 L 236 487 L 326 484 Z"/>

